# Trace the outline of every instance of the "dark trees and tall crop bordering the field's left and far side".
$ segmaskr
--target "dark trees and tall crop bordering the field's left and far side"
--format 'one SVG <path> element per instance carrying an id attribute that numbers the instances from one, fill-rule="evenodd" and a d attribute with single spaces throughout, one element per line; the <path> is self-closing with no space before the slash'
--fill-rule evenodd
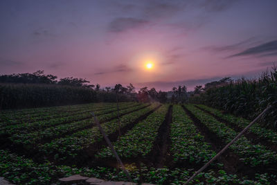
<path id="1" fill-rule="evenodd" d="M 0 109 L 45 107 L 93 102 L 159 101 L 166 103 L 167 93 L 143 87 L 136 93 L 132 84 L 100 88 L 83 78 L 60 78 L 44 71 L 0 76 Z"/>

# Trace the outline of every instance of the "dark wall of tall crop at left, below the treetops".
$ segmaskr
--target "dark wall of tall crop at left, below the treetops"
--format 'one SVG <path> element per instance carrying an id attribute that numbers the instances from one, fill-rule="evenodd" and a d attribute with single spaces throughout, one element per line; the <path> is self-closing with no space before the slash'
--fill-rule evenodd
<path id="1" fill-rule="evenodd" d="M 130 100 L 125 95 L 120 101 Z M 65 85 L 0 84 L 0 109 L 116 102 L 116 94 Z"/>

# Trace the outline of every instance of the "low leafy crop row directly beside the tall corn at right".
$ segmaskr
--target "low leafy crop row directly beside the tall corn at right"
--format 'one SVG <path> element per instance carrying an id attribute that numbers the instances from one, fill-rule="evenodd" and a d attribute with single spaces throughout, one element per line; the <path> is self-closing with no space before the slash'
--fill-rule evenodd
<path id="1" fill-rule="evenodd" d="M 223 118 L 224 120 L 230 123 L 238 125 L 238 127 L 241 127 L 242 129 L 244 127 L 247 127 L 247 125 L 249 125 L 250 123 L 250 121 L 248 121 L 247 119 L 238 118 L 238 117 L 232 116 L 231 114 L 222 114 L 220 110 L 213 109 L 205 105 L 197 105 L 197 106 L 201 107 L 202 109 L 205 109 L 208 112 L 211 112 L 212 114 L 215 114 L 215 116 Z M 265 127 L 260 126 L 258 123 L 255 123 L 249 128 L 249 131 L 256 134 L 260 139 L 266 139 L 271 143 L 277 144 L 277 133 L 274 132 L 274 130 L 267 129 Z"/>

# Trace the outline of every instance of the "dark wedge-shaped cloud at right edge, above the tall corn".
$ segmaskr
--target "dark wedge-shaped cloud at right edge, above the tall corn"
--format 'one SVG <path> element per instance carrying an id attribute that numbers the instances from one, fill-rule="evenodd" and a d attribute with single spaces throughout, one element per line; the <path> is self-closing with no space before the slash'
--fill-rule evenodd
<path id="1" fill-rule="evenodd" d="M 262 53 L 269 53 L 272 51 L 277 51 L 277 40 L 267 42 L 265 44 L 260 44 L 258 46 L 246 49 L 240 53 L 236 53 L 235 55 L 230 55 L 229 58 L 244 56 L 244 55 L 257 55 Z"/>

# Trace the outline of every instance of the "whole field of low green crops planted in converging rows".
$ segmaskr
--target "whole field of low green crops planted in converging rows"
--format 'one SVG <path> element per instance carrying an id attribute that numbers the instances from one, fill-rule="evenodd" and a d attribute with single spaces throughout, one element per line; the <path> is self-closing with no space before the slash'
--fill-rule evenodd
<path id="1" fill-rule="evenodd" d="M 136 183 L 184 184 L 251 122 L 193 104 L 6 110 L 0 113 L 0 177 L 15 184 L 52 184 L 75 174 L 127 182 L 91 112 Z M 255 123 L 190 184 L 277 184 L 277 132 Z"/>

